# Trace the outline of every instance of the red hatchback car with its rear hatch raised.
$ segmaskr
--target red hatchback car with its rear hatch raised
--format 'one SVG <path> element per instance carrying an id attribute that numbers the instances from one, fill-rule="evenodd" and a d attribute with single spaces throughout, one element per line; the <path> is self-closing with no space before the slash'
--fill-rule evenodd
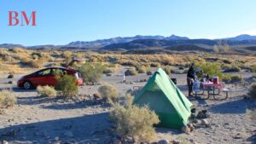
<path id="1" fill-rule="evenodd" d="M 71 66 L 74 61 L 78 60 L 72 60 L 68 66 Z M 36 88 L 38 85 L 50 85 L 55 86 L 57 83 L 55 79 L 55 75 L 57 74 L 67 74 L 67 75 L 73 75 L 78 79 L 77 85 L 83 84 L 83 79 L 81 78 L 81 74 L 77 72 L 76 70 L 69 69 L 67 67 L 49 67 L 44 68 L 38 72 L 33 72 L 32 74 L 26 75 L 22 78 L 20 78 L 17 82 L 18 87 L 24 88 L 24 89 L 32 89 Z"/>

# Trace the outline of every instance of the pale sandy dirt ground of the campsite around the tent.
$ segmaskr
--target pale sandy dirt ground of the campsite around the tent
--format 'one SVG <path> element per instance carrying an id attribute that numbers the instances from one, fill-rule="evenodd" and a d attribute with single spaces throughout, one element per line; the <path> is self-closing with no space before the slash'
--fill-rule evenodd
<path id="1" fill-rule="evenodd" d="M 255 102 L 245 100 L 248 84 L 253 82 L 252 73 L 239 73 L 245 79 L 241 84 L 226 84 L 230 88 L 227 100 L 214 101 L 190 99 L 197 111 L 207 109 L 211 117 L 207 118 L 209 128 L 198 128 L 185 134 L 180 130 L 156 128 L 154 141 L 161 139 L 179 140 L 182 143 L 256 143 L 252 136 L 256 124 L 247 118 L 247 108 L 255 107 Z M 108 121 L 110 107 L 95 104 L 92 101 L 63 101 L 38 97 L 35 89 L 16 88 L 16 84 L 7 84 L 7 75 L 0 76 L 0 88 L 11 88 L 18 95 L 17 106 L 0 114 L 0 140 L 9 143 L 110 143 L 113 139 L 112 124 Z M 177 86 L 187 95 L 186 75 L 172 74 L 177 78 Z M 126 77 L 126 81 L 149 78 L 146 74 Z M 123 77 L 114 74 L 102 78 L 102 84 L 114 84 L 120 95 L 134 86 L 146 83 L 120 84 Z M 81 86 L 79 94 L 92 95 L 99 86 Z"/>

